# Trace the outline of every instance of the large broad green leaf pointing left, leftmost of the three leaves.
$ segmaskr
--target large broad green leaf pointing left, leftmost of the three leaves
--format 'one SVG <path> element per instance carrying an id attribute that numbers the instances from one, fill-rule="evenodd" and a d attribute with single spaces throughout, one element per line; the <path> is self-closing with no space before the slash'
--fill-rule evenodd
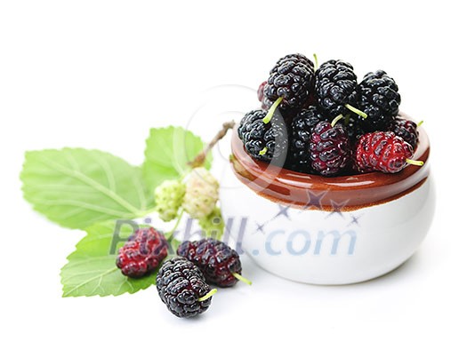
<path id="1" fill-rule="evenodd" d="M 27 152 L 20 178 L 25 199 L 61 226 L 139 218 L 154 207 L 141 169 L 97 150 Z"/>

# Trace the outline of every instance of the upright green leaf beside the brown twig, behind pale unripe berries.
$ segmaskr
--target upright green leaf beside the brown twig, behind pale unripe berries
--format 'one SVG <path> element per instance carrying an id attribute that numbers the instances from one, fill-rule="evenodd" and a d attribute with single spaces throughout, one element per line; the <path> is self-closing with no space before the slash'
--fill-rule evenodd
<path id="1" fill-rule="evenodd" d="M 203 151 L 203 141 L 191 131 L 180 127 L 151 129 L 146 140 L 146 160 L 143 176 L 150 188 L 163 181 L 178 179 L 189 171 L 188 163 Z M 205 168 L 211 168 L 212 155 L 208 155 Z"/>

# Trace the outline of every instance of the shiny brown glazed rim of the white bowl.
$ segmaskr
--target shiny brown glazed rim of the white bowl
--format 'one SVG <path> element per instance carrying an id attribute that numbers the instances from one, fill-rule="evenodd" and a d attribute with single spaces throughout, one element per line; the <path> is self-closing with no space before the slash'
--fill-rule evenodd
<path id="1" fill-rule="evenodd" d="M 407 115 L 404 115 L 407 117 Z M 289 171 L 254 160 L 234 129 L 230 163 L 237 178 L 254 192 L 282 205 L 303 210 L 358 210 L 395 200 L 421 186 L 429 175 L 430 142 L 422 127 L 414 160 L 396 174 L 380 172 L 326 178 Z"/>

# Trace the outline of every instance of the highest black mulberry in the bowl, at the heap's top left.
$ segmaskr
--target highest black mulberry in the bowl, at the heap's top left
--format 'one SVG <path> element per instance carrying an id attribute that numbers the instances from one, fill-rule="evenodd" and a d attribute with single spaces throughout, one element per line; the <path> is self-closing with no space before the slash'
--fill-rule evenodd
<path id="1" fill-rule="evenodd" d="M 270 108 L 282 97 L 279 106 L 282 115 L 302 108 L 312 96 L 314 77 L 314 65 L 310 59 L 300 53 L 286 55 L 270 70 L 263 91 L 263 106 Z"/>

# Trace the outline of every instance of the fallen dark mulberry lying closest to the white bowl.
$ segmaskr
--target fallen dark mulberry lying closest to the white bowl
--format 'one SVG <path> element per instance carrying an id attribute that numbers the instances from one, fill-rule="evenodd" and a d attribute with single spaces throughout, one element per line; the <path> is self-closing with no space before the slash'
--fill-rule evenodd
<path id="1" fill-rule="evenodd" d="M 235 285 L 238 282 L 236 274 L 242 274 L 238 253 L 230 249 L 226 243 L 213 238 L 182 242 L 177 254 L 199 267 L 208 283 L 220 287 Z"/>

